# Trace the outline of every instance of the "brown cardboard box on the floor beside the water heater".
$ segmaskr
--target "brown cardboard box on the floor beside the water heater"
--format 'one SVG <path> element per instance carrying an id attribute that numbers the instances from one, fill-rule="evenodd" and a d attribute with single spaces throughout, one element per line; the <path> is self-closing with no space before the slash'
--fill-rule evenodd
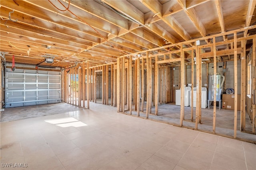
<path id="1" fill-rule="evenodd" d="M 222 109 L 234 110 L 235 108 L 235 95 L 222 95 Z M 237 110 L 240 111 L 241 95 L 237 95 Z"/>

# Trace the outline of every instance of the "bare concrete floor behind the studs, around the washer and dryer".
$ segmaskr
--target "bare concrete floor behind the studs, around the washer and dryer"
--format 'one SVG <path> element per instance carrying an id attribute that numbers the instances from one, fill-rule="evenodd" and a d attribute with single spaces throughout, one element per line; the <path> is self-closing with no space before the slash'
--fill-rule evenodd
<path id="1" fill-rule="evenodd" d="M 153 103 L 152 103 L 153 106 Z M 126 105 L 127 108 L 127 105 Z M 134 105 L 133 105 L 134 109 Z M 130 114 L 129 111 L 125 112 Z M 155 115 L 155 107 L 152 107 L 149 119 L 160 121 L 162 123 L 169 123 L 171 125 L 180 126 L 180 106 L 174 103 L 158 105 L 158 116 Z M 137 116 L 137 111 L 132 111 L 132 115 Z M 144 103 L 144 112 L 140 111 L 140 117 L 146 118 L 146 102 Z M 196 108 L 193 108 L 193 121 L 191 121 L 191 107 L 184 107 L 183 126 L 188 128 L 195 128 Z M 213 132 L 213 108 L 201 109 L 201 123 L 198 123 L 198 130 L 204 132 Z M 240 132 L 240 111 L 237 112 L 237 127 L 236 136 L 240 139 L 249 140 L 256 143 L 256 134 Z M 246 129 L 247 132 L 252 132 L 252 123 L 248 115 L 246 115 Z M 234 111 L 226 109 L 216 109 L 216 134 L 223 136 L 234 136 Z"/>

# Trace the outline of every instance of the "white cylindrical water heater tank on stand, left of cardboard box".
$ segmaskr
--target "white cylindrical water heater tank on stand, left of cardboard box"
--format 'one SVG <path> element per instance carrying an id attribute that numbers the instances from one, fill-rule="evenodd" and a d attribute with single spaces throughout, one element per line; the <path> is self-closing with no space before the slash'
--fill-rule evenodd
<path id="1" fill-rule="evenodd" d="M 221 92 L 224 83 L 224 75 L 216 75 L 216 101 L 221 100 Z M 208 89 L 208 100 L 214 100 L 214 75 L 209 75 L 208 79 L 209 89 Z"/>

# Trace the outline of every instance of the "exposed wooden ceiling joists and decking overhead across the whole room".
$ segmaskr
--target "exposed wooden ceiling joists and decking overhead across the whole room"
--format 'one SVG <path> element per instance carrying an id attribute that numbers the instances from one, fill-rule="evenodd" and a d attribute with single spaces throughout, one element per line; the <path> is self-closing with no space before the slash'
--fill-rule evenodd
<path id="1" fill-rule="evenodd" d="M 35 59 L 31 64 L 49 53 L 58 55 L 54 66 L 87 61 L 95 66 L 139 53 L 161 55 L 181 49 L 180 45 L 194 47 L 196 40 L 210 47 L 213 37 L 218 37 L 216 44 L 223 44 L 216 49 L 218 54 L 229 49 L 224 44 L 233 40 L 234 30 L 239 49 L 240 38 L 247 37 L 248 30 L 256 27 L 252 23 L 256 21 L 255 0 L 232 1 L 232 8 L 227 8 L 224 0 L 60 0 L 63 6 L 57 0 L 50 2 L 0 1 L 0 50 L 9 52 L 8 59 L 12 55 L 26 56 L 29 51 L 29 57 Z M 251 31 L 252 34 L 255 33 Z M 252 41 L 246 43 L 250 46 Z M 186 51 L 186 55 L 190 53 Z M 180 57 L 179 53 L 176 55 Z M 227 56 L 232 60 L 232 54 Z"/>

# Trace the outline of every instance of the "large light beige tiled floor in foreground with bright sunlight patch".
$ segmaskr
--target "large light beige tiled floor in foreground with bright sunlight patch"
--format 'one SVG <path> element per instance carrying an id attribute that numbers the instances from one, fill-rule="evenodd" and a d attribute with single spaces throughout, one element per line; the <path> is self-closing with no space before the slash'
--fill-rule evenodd
<path id="1" fill-rule="evenodd" d="M 57 108 L 62 106 L 56 104 Z M 30 108 L 35 111 L 35 107 Z M 18 112 L 21 108 L 16 109 Z M 255 144 L 139 119 L 116 113 L 115 107 L 92 102 L 90 110 L 59 110 L 62 112 L 0 123 L 1 170 L 255 170 L 256 167 Z M 27 167 L 6 168 L 4 163 L 23 163 Z"/>

